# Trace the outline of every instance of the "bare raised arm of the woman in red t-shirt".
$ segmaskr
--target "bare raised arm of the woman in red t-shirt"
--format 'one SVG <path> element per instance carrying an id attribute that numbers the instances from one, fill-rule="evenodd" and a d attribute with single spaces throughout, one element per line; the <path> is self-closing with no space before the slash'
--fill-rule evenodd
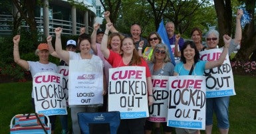
<path id="1" fill-rule="evenodd" d="M 108 45 L 108 33 L 109 33 L 111 27 L 112 27 L 112 23 L 106 23 L 106 30 L 105 30 L 105 33 L 103 35 L 101 45 L 100 45 L 100 50 L 106 59 L 108 59 L 108 57 L 110 55 L 110 51 L 108 50 L 107 45 Z"/>

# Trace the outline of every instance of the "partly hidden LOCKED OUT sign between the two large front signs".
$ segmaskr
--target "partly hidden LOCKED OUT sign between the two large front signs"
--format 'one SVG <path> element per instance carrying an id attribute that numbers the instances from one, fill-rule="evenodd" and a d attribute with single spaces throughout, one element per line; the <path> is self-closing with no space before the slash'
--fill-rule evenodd
<path id="1" fill-rule="evenodd" d="M 168 115 L 169 76 L 152 76 L 154 103 L 149 107 L 149 121 L 166 122 Z"/>

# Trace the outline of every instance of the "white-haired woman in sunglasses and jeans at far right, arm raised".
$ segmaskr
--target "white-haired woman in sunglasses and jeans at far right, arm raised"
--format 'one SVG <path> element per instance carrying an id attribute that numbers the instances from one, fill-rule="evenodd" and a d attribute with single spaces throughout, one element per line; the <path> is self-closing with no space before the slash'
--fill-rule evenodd
<path id="1" fill-rule="evenodd" d="M 241 30 L 241 17 L 243 15 L 243 10 L 237 10 L 236 17 L 236 27 L 235 27 L 235 38 L 231 40 L 230 47 L 228 50 L 229 56 L 239 46 L 242 38 Z M 215 30 L 209 31 L 205 35 L 205 40 L 207 42 L 207 49 L 217 48 L 219 43 L 219 33 Z M 221 74 L 219 74 L 221 75 Z M 221 134 L 229 132 L 229 96 L 219 97 L 219 98 L 207 98 L 206 99 L 206 121 L 205 121 L 205 133 L 211 134 L 211 129 L 213 127 L 213 113 L 217 117 L 217 127 Z"/>

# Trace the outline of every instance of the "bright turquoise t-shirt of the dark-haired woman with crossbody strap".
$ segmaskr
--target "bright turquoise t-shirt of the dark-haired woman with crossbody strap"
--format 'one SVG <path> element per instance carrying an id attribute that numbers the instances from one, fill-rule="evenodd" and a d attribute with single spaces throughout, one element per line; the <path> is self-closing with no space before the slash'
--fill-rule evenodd
<path id="1" fill-rule="evenodd" d="M 192 75 L 193 76 L 203 76 L 206 62 L 207 61 L 199 60 L 199 62 L 197 62 L 193 68 Z M 174 68 L 174 72 L 176 72 L 179 76 L 186 76 L 186 75 L 190 74 L 190 70 L 186 70 L 186 68 L 184 68 L 183 62 L 176 64 L 176 66 Z"/>

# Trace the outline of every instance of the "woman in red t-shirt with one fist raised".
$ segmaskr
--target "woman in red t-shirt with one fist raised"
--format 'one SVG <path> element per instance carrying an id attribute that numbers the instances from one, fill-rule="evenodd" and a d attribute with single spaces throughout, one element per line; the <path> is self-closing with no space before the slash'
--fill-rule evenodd
<path id="1" fill-rule="evenodd" d="M 108 42 L 108 33 L 112 28 L 112 23 L 106 24 L 106 30 L 102 39 L 102 44 L 100 46 L 102 54 L 112 65 L 113 68 L 120 66 L 145 66 L 146 67 L 146 82 L 148 89 L 148 105 L 152 105 L 152 81 L 150 76 L 150 70 L 148 65 L 138 55 L 137 50 L 135 49 L 134 40 L 132 38 L 124 38 L 121 44 L 122 54 L 118 54 L 109 50 L 107 48 Z M 138 119 L 121 119 L 120 122 L 120 133 L 144 133 L 144 122 L 145 118 Z"/>

